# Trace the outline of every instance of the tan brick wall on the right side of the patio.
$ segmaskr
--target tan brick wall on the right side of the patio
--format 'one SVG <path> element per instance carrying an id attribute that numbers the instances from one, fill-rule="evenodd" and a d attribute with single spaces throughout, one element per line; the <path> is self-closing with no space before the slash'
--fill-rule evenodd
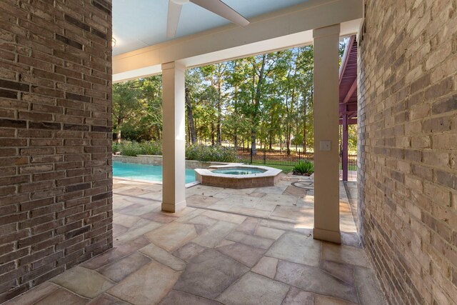
<path id="1" fill-rule="evenodd" d="M 363 242 L 391 304 L 456 304 L 457 1 L 365 2 Z"/>

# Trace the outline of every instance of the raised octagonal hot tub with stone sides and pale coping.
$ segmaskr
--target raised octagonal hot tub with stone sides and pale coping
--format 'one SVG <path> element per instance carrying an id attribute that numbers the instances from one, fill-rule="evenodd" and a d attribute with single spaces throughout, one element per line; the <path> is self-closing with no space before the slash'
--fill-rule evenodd
<path id="1" fill-rule="evenodd" d="M 247 189 L 273 186 L 282 171 L 268 166 L 228 164 L 209 166 L 209 169 L 195 169 L 195 172 L 196 179 L 204 185 Z"/>

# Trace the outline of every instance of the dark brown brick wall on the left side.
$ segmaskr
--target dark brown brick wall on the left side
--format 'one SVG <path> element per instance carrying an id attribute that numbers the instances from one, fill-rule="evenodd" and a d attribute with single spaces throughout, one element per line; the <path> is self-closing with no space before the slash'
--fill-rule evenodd
<path id="1" fill-rule="evenodd" d="M 112 245 L 111 0 L 0 1 L 0 303 Z"/>

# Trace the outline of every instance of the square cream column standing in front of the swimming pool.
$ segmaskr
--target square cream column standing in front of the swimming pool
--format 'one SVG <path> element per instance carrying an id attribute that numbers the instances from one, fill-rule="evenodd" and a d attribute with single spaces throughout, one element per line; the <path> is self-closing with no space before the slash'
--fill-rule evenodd
<path id="1" fill-rule="evenodd" d="M 185 71 L 186 67 L 177 62 L 162 64 L 162 211 L 169 212 L 181 211 L 186 207 Z"/>

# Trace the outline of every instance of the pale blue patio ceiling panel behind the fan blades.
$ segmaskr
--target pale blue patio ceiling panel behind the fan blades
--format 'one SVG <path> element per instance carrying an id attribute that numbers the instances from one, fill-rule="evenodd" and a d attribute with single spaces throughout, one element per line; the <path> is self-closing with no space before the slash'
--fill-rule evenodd
<path id="1" fill-rule="evenodd" d="M 268 14 L 308 0 L 224 0 L 224 3 L 247 19 Z M 132 5 L 134 3 L 134 5 Z M 168 0 L 114 0 L 113 36 L 116 39 L 114 56 L 154 46 L 172 38 L 166 36 Z M 183 6 L 175 38 L 189 36 L 230 21 L 211 13 L 196 4 Z"/>

